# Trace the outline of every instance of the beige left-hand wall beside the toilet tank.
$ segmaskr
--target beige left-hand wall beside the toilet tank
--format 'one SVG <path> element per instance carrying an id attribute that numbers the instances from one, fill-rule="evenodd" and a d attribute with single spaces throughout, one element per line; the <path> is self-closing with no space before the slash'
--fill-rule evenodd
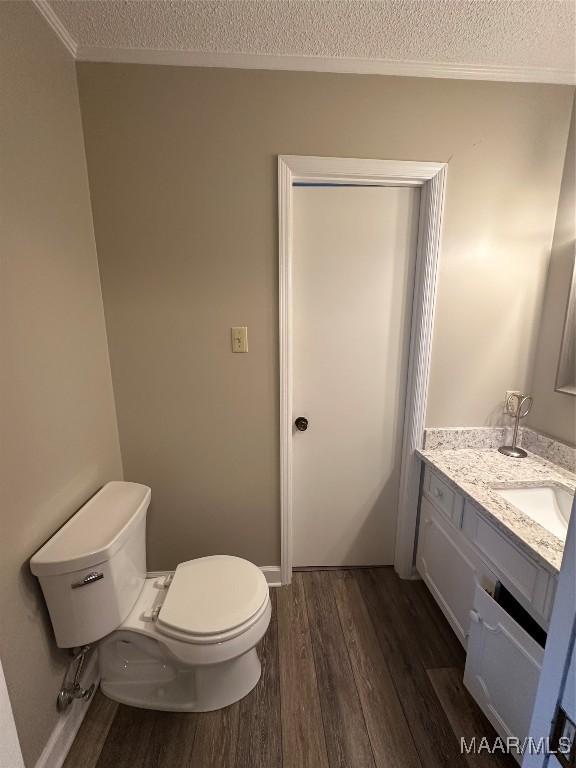
<path id="1" fill-rule="evenodd" d="M 74 64 L 0 3 L 0 657 L 28 768 L 64 669 L 34 551 L 121 476 Z"/>

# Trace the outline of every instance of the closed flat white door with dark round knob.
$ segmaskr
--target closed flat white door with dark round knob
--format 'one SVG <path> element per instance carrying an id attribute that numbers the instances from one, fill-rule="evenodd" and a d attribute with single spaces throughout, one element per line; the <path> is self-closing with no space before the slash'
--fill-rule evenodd
<path id="1" fill-rule="evenodd" d="M 297 186 L 294 565 L 394 558 L 420 192 Z"/>

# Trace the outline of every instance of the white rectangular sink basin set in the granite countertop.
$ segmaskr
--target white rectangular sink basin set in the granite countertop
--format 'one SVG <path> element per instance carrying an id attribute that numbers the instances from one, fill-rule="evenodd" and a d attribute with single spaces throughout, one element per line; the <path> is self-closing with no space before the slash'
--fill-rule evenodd
<path id="1" fill-rule="evenodd" d="M 568 521 L 574 494 L 557 485 L 540 485 L 531 488 L 497 488 L 495 489 L 506 501 L 516 509 L 524 512 L 529 518 L 546 528 L 547 531 L 566 539 Z"/>

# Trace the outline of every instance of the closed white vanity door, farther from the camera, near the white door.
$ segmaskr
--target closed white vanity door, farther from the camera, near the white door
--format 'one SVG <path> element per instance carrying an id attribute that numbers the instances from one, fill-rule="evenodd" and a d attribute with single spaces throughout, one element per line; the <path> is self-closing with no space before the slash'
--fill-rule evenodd
<path id="1" fill-rule="evenodd" d="M 420 506 L 416 566 L 466 647 L 476 584 L 494 586 L 496 577 L 462 533 L 424 498 Z"/>

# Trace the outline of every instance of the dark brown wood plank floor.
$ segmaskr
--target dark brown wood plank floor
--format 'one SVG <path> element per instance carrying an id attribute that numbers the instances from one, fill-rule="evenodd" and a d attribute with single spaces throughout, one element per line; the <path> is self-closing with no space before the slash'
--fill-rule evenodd
<path id="1" fill-rule="evenodd" d="M 173 714 L 98 693 L 64 768 L 513 768 L 462 755 L 494 737 L 464 653 L 422 582 L 390 568 L 296 573 L 271 592 L 262 678 L 227 709 Z"/>

